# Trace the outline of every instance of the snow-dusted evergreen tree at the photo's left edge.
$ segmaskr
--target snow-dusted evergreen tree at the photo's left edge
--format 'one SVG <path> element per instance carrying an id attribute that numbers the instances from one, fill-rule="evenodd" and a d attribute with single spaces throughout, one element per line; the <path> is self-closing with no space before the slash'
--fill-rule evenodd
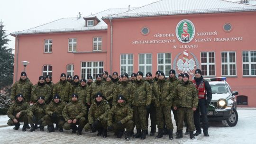
<path id="1" fill-rule="evenodd" d="M 7 38 L 6 30 L 3 28 L 4 25 L 0 22 L 0 89 L 12 84 L 14 63 L 12 49 L 5 46 L 10 40 Z"/>

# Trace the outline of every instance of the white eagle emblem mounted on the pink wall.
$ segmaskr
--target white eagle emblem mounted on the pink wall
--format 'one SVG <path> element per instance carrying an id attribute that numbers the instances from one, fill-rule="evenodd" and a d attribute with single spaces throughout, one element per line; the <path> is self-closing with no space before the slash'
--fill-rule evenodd
<path id="1" fill-rule="evenodd" d="M 195 61 L 193 59 L 186 59 L 186 61 L 184 62 L 182 59 L 179 59 L 176 66 L 179 71 L 190 73 L 190 71 L 193 71 L 195 69 Z"/>

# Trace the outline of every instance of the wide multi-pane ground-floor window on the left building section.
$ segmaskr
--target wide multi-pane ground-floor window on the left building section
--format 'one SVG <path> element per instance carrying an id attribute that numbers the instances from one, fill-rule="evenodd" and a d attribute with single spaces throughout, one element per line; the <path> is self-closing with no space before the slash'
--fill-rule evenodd
<path id="1" fill-rule="evenodd" d="M 88 79 L 91 75 L 93 79 L 96 78 L 97 74 L 103 73 L 104 63 L 103 62 L 82 62 L 81 63 L 81 79 Z"/>

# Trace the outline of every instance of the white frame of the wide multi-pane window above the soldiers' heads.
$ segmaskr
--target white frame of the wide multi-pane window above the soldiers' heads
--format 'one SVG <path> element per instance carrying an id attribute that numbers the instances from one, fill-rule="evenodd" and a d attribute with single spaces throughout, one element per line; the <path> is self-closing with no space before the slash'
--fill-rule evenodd
<path id="1" fill-rule="evenodd" d="M 94 66 L 93 63 L 96 63 L 97 62 L 97 66 Z M 82 63 L 86 63 L 86 66 L 85 67 L 82 67 Z M 91 63 L 91 66 L 88 67 L 88 63 Z M 100 63 L 103 63 L 103 66 L 100 66 Z M 85 73 L 82 73 L 82 69 L 85 69 Z M 93 80 L 96 79 L 96 75 L 97 74 L 101 74 L 103 73 L 103 70 L 104 70 L 104 61 L 88 61 L 88 62 L 81 62 L 81 79 L 84 78 L 84 79 L 88 79 L 87 77 L 87 70 L 88 69 L 91 69 L 91 76 L 93 78 Z M 97 69 L 97 73 L 95 73 L 95 75 L 93 75 L 93 69 Z M 100 69 L 102 70 L 102 72 L 100 72 Z M 85 74 L 85 77 L 82 77 L 82 74 Z"/>

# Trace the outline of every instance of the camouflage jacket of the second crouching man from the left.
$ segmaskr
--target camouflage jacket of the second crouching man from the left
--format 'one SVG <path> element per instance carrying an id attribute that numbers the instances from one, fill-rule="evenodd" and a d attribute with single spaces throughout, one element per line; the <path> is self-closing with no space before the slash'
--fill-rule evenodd
<path id="1" fill-rule="evenodd" d="M 27 116 L 33 117 L 36 116 L 38 119 L 44 117 L 46 115 L 46 107 L 47 104 L 44 103 L 40 105 L 38 102 L 32 105 L 27 110 Z"/>

